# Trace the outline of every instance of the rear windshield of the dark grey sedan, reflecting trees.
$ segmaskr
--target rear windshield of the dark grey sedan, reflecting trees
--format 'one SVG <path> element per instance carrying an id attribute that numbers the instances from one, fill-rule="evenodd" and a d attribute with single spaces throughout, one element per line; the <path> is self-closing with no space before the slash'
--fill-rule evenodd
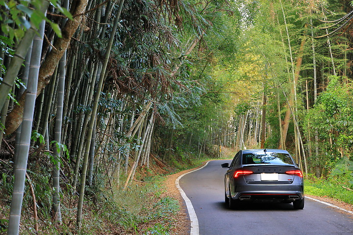
<path id="1" fill-rule="evenodd" d="M 286 153 L 271 153 L 271 152 L 258 152 L 258 153 L 243 153 L 243 164 L 293 164 L 289 154 Z"/>

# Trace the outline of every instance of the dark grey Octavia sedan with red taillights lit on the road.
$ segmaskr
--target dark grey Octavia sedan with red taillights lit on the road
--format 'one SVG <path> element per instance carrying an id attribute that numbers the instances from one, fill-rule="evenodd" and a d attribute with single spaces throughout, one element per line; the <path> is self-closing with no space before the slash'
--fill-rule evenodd
<path id="1" fill-rule="evenodd" d="M 241 201 L 293 203 L 304 208 L 303 173 L 286 150 L 240 150 L 225 175 L 225 201 L 230 209 Z"/>

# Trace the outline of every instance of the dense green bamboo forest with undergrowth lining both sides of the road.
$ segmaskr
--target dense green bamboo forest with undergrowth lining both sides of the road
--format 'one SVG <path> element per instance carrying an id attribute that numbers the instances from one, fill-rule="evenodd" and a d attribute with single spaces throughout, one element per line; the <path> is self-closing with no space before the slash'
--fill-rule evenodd
<path id="1" fill-rule="evenodd" d="M 164 177 L 251 148 L 353 204 L 352 0 L 0 6 L 0 234 L 174 234 Z"/>

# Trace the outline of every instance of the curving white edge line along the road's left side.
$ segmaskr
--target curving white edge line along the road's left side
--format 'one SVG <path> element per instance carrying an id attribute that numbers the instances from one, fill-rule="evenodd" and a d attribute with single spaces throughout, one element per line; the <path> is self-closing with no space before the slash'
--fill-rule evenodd
<path id="1" fill-rule="evenodd" d="M 189 212 L 189 217 L 190 217 L 190 235 L 199 235 L 199 220 L 196 216 L 196 213 L 195 213 L 195 210 L 194 210 L 194 207 L 190 201 L 190 199 L 186 196 L 184 190 L 181 189 L 180 185 L 179 185 L 179 180 L 181 179 L 181 177 L 183 177 L 184 175 L 186 174 L 189 174 L 191 172 L 194 172 L 194 171 L 197 171 L 197 170 L 200 170 L 202 169 L 203 167 L 205 167 L 210 161 L 208 161 L 206 164 L 204 164 L 202 167 L 196 169 L 196 170 L 192 170 L 190 172 L 187 172 L 185 174 L 182 174 L 180 175 L 177 179 L 176 179 L 176 188 L 179 189 L 179 192 L 182 196 L 182 198 L 184 199 L 185 201 L 185 204 L 186 204 L 186 207 L 187 207 L 187 210 Z"/>

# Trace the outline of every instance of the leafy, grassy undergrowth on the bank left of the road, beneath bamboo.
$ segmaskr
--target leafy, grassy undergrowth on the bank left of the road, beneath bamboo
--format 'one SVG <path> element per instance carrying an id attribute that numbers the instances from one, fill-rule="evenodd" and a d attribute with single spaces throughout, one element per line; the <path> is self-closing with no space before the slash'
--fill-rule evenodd
<path id="1" fill-rule="evenodd" d="M 65 234 L 65 235 L 169 235 L 176 226 L 179 203 L 166 196 L 164 181 L 167 174 L 193 168 L 206 161 L 188 151 L 172 154 L 164 169 L 151 162 L 149 169 L 140 169 L 132 184 L 124 189 L 126 176 L 122 173 L 117 180 L 107 183 L 104 171 L 96 174 L 93 184 L 86 188 L 83 220 L 76 230 L 77 196 L 72 194 L 70 182 L 62 182 L 61 213 L 62 223 L 52 221 L 52 188 L 50 187 L 49 165 L 29 163 L 28 178 L 22 207 L 20 234 Z M 97 169 L 99 171 L 100 169 Z M 12 193 L 12 167 L 1 162 L 0 178 L 0 235 L 6 234 Z M 32 185 L 37 205 L 38 232 L 35 232 Z M 111 187 L 110 187 L 111 186 Z"/>

